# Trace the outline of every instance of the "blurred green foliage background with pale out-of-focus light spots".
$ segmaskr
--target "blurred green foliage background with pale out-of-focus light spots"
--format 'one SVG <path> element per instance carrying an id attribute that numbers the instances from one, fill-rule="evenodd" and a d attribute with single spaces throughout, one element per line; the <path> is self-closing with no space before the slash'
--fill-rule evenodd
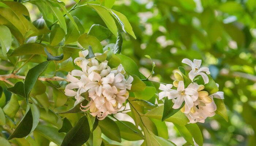
<path id="1" fill-rule="evenodd" d="M 70 9 L 75 2 L 64 0 Z M 31 20 L 41 17 L 26 3 Z M 256 0 L 116 0 L 113 9 L 131 23 L 137 39 L 123 34 L 122 54 L 131 57 L 151 80 L 173 82 L 173 73 L 183 58 L 202 59 L 224 92 L 229 122 L 215 115 L 198 123 L 205 146 L 255 146 L 256 143 Z M 89 7 L 72 11 L 86 32 L 92 24 L 105 23 Z M 112 37 L 102 45 L 115 43 Z M 158 87 L 157 87 L 158 88 Z M 169 139 L 177 145 L 185 140 L 169 127 Z M 139 145 L 125 142 L 123 145 Z"/>

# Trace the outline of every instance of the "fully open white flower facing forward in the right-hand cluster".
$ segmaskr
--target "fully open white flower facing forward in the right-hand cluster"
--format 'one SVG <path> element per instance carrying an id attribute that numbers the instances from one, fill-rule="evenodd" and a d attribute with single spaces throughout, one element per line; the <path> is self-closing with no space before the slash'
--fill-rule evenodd
<path id="1" fill-rule="evenodd" d="M 168 98 L 173 99 L 173 108 L 180 108 L 182 102 L 185 100 L 185 113 L 188 113 L 193 107 L 194 101 L 198 98 L 198 88 L 199 86 L 196 83 L 191 83 L 187 88 L 185 88 L 184 82 L 179 81 L 177 90 L 170 91 L 170 98 Z"/>

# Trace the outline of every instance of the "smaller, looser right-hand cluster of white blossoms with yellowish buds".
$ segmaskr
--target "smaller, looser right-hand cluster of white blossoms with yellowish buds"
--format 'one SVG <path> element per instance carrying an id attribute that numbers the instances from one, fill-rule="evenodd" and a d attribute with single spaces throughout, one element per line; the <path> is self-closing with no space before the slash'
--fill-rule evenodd
<path id="1" fill-rule="evenodd" d="M 174 74 L 176 81 L 173 82 L 173 85 L 160 84 L 159 87 L 159 89 L 162 90 L 162 92 L 159 93 L 159 99 L 162 99 L 163 97 L 172 99 L 174 109 L 180 108 L 183 101 L 185 101 L 185 105 L 181 108 L 181 111 L 188 117 L 190 121 L 189 123 L 204 123 L 204 120 L 207 117 L 214 116 L 215 111 L 217 110 L 213 98 L 224 99 L 223 92 L 216 92 L 209 95 L 207 91 L 203 91 L 204 85 L 198 85 L 193 82 L 196 76 L 202 76 L 205 84 L 209 82 L 207 76 L 207 74 L 210 74 L 209 69 L 207 67 L 200 68 L 201 62 L 201 60 L 197 59 L 194 59 L 193 62 L 189 59 L 182 60 L 182 63 L 185 63 L 192 68 L 188 74 L 192 82 L 187 88 L 185 88 L 183 77 L 179 73 Z M 173 86 L 177 89 L 171 89 Z M 219 85 L 217 84 L 217 86 Z"/>

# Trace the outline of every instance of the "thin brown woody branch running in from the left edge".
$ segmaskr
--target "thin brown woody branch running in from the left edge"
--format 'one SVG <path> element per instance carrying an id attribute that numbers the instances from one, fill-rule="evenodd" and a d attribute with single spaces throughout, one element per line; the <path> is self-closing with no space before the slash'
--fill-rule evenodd
<path id="1" fill-rule="evenodd" d="M 18 79 L 25 80 L 26 77 L 25 76 L 19 76 L 19 75 L 16 75 L 16 74 L 0 75 L 0 80 L 1 81 L 7 82 L 8 81 L 7 78 L 18 78 Z M 58 76 L 55 76 L 55 77 L 39 77 L 38 80 L 40 80 L 40 81 L 68 81 L 67 79 L 62 78 L 62 77 L 58 77 Z M 10 83 L 8 83 L 8 84 L 10 84 Z"/>

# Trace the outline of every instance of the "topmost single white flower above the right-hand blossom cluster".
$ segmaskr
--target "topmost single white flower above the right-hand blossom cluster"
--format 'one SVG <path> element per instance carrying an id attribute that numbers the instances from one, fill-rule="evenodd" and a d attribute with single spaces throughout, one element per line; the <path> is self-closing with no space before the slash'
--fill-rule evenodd
<path id="1" fill-rule="evenodd" d="M 194 59 L 192 62 L 191 60 L 185 58 L 182 60 L 182 63 L 191 66 L 192 70 L 188 73 L 188 76 L 191 81 L 193 81 L 193 79 L 196 76 L 201 75 L 204 80 L 204 84 L 207 84 L 209 82 L 209 78 L 206 75 L 206 74 L 210 74 L 209 68 L 207 68 L 207 67 L 200 68 L 202 60 Z M 206 72 L 206 73 L 204 73 L 204 72 Z"/>

